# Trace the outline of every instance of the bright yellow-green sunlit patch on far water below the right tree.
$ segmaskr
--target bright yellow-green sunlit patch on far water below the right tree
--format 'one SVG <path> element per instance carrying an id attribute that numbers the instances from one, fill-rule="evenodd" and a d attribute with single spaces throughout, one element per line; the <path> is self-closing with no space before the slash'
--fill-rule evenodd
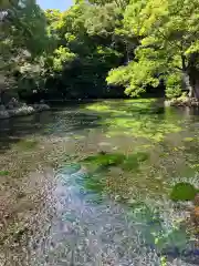
<path id="1" fill-rule="evenodd" d="M 160 142 L 169 133 L 178 133 L 182 129 L 164 109 L 156 104 L 156 100 L 114 101 L 94 103 L 86 110 L 96 112 L 103 117 L 107 136 L 130 135 Z"/>

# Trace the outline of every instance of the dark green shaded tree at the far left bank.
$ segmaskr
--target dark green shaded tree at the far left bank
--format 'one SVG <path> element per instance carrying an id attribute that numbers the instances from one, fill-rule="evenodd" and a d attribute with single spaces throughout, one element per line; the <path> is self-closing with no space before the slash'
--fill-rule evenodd
<path id="1" fill-rule="evenodd" d="M 7 88 L 13 89 L 17 72 L 20 84 L 40 75 L 39 57 L 50 40 L 44 12 L 34 0 L 4 0 L 0 7 L 0 72 Z"/>

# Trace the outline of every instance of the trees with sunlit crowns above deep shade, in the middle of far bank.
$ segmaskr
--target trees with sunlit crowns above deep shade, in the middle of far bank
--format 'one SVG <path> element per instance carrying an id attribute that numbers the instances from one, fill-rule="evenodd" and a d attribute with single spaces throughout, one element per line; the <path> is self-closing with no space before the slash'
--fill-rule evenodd
<path id="1" fill-rule="evenodd" d="M 115 4 L 98 7 L 78 1 L 61 14 L 56 10 L 45 12 L 49 32 L 56 40 L 54 52 L 45 57 L 46 86 L 51 85 L 53 94 L 93 98 L 107 93 L 107 72 L 118 66 L 122 58 L 113 45 L 119 23 L 115 9 Z"/>

